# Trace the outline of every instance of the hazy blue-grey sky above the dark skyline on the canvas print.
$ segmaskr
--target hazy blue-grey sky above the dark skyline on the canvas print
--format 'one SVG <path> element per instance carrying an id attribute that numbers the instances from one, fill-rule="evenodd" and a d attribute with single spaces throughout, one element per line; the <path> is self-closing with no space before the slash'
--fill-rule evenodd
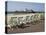
<path id="1" fill-rule="evenodd" d="M 44 3 L 32 3 L 32 2 L 15 2 L 15 1 L 8 1 L 7 2 L 7 11 L 22 11 L 26 8 L 29 10 L 34 11 L 44 11 Z"/>

